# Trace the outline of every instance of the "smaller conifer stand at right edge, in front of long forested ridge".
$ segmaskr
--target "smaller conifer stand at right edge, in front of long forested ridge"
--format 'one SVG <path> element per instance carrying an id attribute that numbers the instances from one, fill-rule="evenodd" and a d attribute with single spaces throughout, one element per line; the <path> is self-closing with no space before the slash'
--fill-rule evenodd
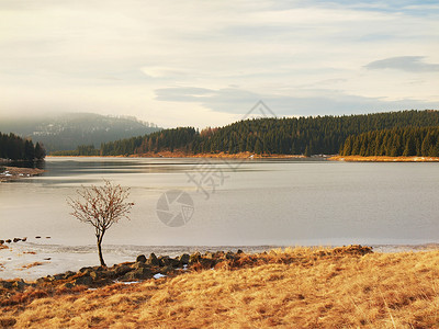
<path id="1" fill-rule="evenodd" d="M 341 156 L 439 157 L 439 127 L 404 127 L 349 136 Z"/>

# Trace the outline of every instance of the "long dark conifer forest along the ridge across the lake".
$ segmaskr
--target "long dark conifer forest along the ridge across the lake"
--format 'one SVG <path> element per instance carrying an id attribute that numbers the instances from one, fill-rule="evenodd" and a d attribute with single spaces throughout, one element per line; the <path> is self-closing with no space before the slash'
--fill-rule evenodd
<path id="1" fill-rule="evenodd" d="M 345 150 L 345 140 L 349 136 L 352 143 L 353 136 L 369 132 L 393 129 L 393 134 L 404 134 L 401 128 L 426 127 L 427 132 L 429 126 L 439 126 L 439 111 L 412 110 L 363 115 L 258 118 L 201 132 L 193 127 L 164 129 L 146 136 L 105 143 L 99 150 L 93 146 L 80 146 L 75 151 L 59 151 L 54 155 L 126 156 L 160 151 L 182 151 L 187 155 L 244 151 L 271 155 L 335 155 Z M 437 137 L 434 137 L 436 135 L 430 135 L 431 144 L 437 144 Z M 406 144 L 399 137 L 393 139 Z M 404 148 L 405 145 L 403 150 Z M 397 149 L 399 150 L 399 147 Z M 354 150 L 347 148 L 349 152 Z"/>

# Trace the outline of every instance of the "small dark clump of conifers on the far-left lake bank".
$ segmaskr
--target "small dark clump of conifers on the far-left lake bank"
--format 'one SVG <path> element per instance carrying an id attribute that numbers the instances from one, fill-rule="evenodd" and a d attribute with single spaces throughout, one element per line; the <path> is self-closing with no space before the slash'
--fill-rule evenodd
<path id="1" fill-rule="evenodd" d="M 41 160 L 46 152 L 44 148 L 36 143 L 34 145 L 30 139 L 23 139 L 14 134 L 0 133 L 0 159 L 10 160 Z"/>

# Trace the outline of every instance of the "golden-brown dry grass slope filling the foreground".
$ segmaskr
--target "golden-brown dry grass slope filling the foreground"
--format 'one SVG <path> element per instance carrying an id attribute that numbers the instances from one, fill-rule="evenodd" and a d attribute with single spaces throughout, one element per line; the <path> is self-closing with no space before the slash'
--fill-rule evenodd
<path id="1" fill-rule="evenodd" d="M 288 248 L 256 257 L 131 285 L 29 288 L 3 303 L 0 326 L 439 328 L 439 251 Z"/>

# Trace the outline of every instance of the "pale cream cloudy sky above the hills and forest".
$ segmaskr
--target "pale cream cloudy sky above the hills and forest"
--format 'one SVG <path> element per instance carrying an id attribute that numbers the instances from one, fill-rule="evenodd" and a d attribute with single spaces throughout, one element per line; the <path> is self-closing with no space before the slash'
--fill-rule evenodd
<path id="1" fill-rule="evenodd" d="M 439 109 L 438 1 L 0 0 L 0 112 L 218 126 Z"/>

